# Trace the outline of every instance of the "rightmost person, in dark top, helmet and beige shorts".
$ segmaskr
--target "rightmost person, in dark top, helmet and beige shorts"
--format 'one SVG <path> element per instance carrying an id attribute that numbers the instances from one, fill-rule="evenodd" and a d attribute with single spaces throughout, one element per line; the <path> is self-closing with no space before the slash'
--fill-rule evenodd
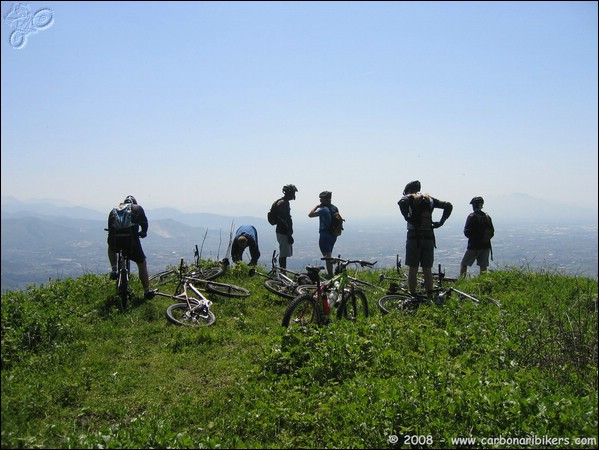
<path id="1" fill-rule="evenodd" d="M 466 218 L 464 225 L 464 236 L 468 238 L 468 247 L 460 263 L 460 276 L 465 277 L 468 267 L 478 265 L 480 273 L 483 274 L 489 267 L 489 256 L 493 260 L 493 249 L 491 238 L 495 235 L 495 227 L 491 216 L 483 212 L 485 200 L 482 197 L 474 197 L 470 200 L 472 212 Z"/>

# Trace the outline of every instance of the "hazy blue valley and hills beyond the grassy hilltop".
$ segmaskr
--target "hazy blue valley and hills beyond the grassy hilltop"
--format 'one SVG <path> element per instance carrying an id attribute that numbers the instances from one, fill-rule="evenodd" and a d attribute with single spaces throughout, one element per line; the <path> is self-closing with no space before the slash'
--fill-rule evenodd
<path id="1" fill-rule="evenodd" d="M 83 274 L 108 273 L 105 214 L 70 210 L 2 211 L 2 290 L 23 289 L 31 284 L 76 278 Z M 59 215 L 56 215 L 59 214 Z M 493 214 L 492 214 L 493 215 Z M 107 214 L 106 214 L 107 216 Z M 258 229 L 262 256 L 260 263 L 270 267 L 278 248 L 275 229 L 265 219 L 226 217 L 213 214 L 184 214 L 175 210 L 148 212 L 150 229 L 142 240 L 150 274 L 177 265 L 181 258 L 194 259 L 194 247 L 202 258 L 227 256 L 231 232 L 250 223 Z M 448 276 L 457 276 L 467 240 L 462 229 L 465 216 L 452 216 L 436 230 L 435 270 L 441 264 Z M 571 223 L 559 220 L 506 222 L 493 216 L 491 270 L 522 267 L 597 278 L 597 221 Z M 201 225 L 203 224 L 203 225 Z M 288 267 L 302 270 L 307 264 L 320 265 L 318 221 L 296 220 L 294 256 Z M 347 220 L 334 254 L 346 259 L 376 261 L 375 268 L 394 267 L 397 255 L 405 259 L 405 221 L 398 213 L 394 219 Z M 249 261 L 249 255 L 244 255 Z M 134 273 L 137 268 L 134 266 Z M 469 269 L 478 274 L 478 267 Z"/>

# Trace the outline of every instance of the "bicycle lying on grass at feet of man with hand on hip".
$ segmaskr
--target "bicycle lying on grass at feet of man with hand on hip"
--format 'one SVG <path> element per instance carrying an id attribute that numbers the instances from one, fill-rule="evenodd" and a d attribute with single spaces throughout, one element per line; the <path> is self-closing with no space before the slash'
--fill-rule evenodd
<path id="1" fill-rule="evenodd" d="M 458 298 L 460 299 L 469 299 L 472 300 L 474 303 L 480 303 L 480 300 L 478 298 L 466 292 L 460 291 L 454 288 L 453 286 L 450 286 L 448 288 L 443 287 L 444 280 L 448 282 L 455 282 L 457 280 L 452 278 L 445 278 L 445 273 L 441 272 L 440 264 L 439 271 L 435 277 L 435 287 L 433 288 L 433 291 L 430 293 L 430 295 L 426 292 L 419 292 L 416 294 L 410 293 L 410 291 L 405 286 L 405 279 L 402 278 L 390 278 L 385 276 L 384 274 L 381 274 L 380 280 L 392 280 L 402 282 L 402 284 L 391 283 L 387 295 L 384 295 L 383 297 L 378 299 L 377 306 L 383 314 L 388 314 L 394 311 L 412 313 L 416 309 L 418 309 L 420 305 L 430 304 L 431 302 L 434 302 L 437 305 L 442 305 L 451 296 L 452 293 L 457 294 Z M 490 297 L 488 298 L 488 300 L 498 307 L 501 306 L 501 304 L 497 300 L 494 300 Z"/>

